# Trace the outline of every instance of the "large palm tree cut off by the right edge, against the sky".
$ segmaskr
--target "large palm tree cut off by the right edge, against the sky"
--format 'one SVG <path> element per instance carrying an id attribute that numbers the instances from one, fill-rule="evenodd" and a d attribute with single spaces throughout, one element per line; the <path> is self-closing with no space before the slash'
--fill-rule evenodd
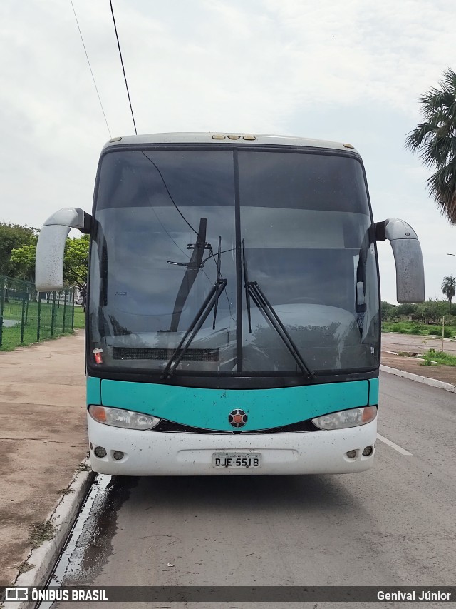
<path id="1" fill-rule="evenodd" d="M 440 211 L 456 224 L 456 73 L 451 68 L 439 86 L 418 98 L 424 122 L 410 131 L 405 146 L 420 151 L 426 167 L 437 169 L 427 188 Z"/>

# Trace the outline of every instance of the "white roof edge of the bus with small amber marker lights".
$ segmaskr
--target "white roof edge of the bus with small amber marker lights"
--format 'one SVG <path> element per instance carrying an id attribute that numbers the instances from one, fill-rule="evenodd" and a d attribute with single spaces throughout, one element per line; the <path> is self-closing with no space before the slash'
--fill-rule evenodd
<path id="1" fill-rule="evenodd" d="M 306 148 L 347 150 L 357 152 L 351 144 L 335 141 L 309 139 L 291 136 L 265 134 L 239 134 L 234 132 L 210 131 L 207 133 L 169 133 L 122 136 L 110 139 L 104 149 L 111 146 L 136 146 L 138 144 L 269 144 L 275 146 L 305 146 Z"/>

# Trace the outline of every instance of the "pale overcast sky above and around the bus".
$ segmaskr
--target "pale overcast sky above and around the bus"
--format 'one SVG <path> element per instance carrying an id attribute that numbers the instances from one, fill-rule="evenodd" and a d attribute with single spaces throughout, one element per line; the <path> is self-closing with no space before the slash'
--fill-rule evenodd
<path id="1" fill-rule="evenodd" d="M 108 0 L 73 0 L 112 136 L 134 133 Z M 353 144 L 375 221 L 418 233 L 426 298 L 456 275 L 456 227 L 405 151 L 418 96 L 456 69 L 453 0 L 113 0 L 138 133 L 231 131 Z M 110 138 L 70 0 L 1 0 L 0 221 L 91 210 Z M 395 268 L 379 243 L 382 298 Z"/>

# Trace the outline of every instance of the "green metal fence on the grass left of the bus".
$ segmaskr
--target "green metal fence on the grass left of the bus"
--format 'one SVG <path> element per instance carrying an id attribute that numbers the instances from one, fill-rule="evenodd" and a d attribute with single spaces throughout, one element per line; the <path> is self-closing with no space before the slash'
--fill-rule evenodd
<path id="1" fill-rule="evenodd" d="M 33 283 L 0 275 L 0 348 L 14 348 L 70 333 L 74 288 L 38 292 Z"/>

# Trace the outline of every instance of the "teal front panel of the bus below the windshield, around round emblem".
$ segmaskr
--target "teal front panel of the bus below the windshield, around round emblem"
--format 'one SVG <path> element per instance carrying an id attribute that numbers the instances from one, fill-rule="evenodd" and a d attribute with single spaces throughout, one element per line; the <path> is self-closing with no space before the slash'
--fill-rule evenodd
<path id="1" fill-rule="evenodd" d="M 201 389 L 101 381 L 103 406 L 125 408 L 193 427 L 233 431 L 229 413 L 247 413 L 242 431 L 269 429 L 346 408 L 367 406 L 369 381 L 279 389 Z"/>

